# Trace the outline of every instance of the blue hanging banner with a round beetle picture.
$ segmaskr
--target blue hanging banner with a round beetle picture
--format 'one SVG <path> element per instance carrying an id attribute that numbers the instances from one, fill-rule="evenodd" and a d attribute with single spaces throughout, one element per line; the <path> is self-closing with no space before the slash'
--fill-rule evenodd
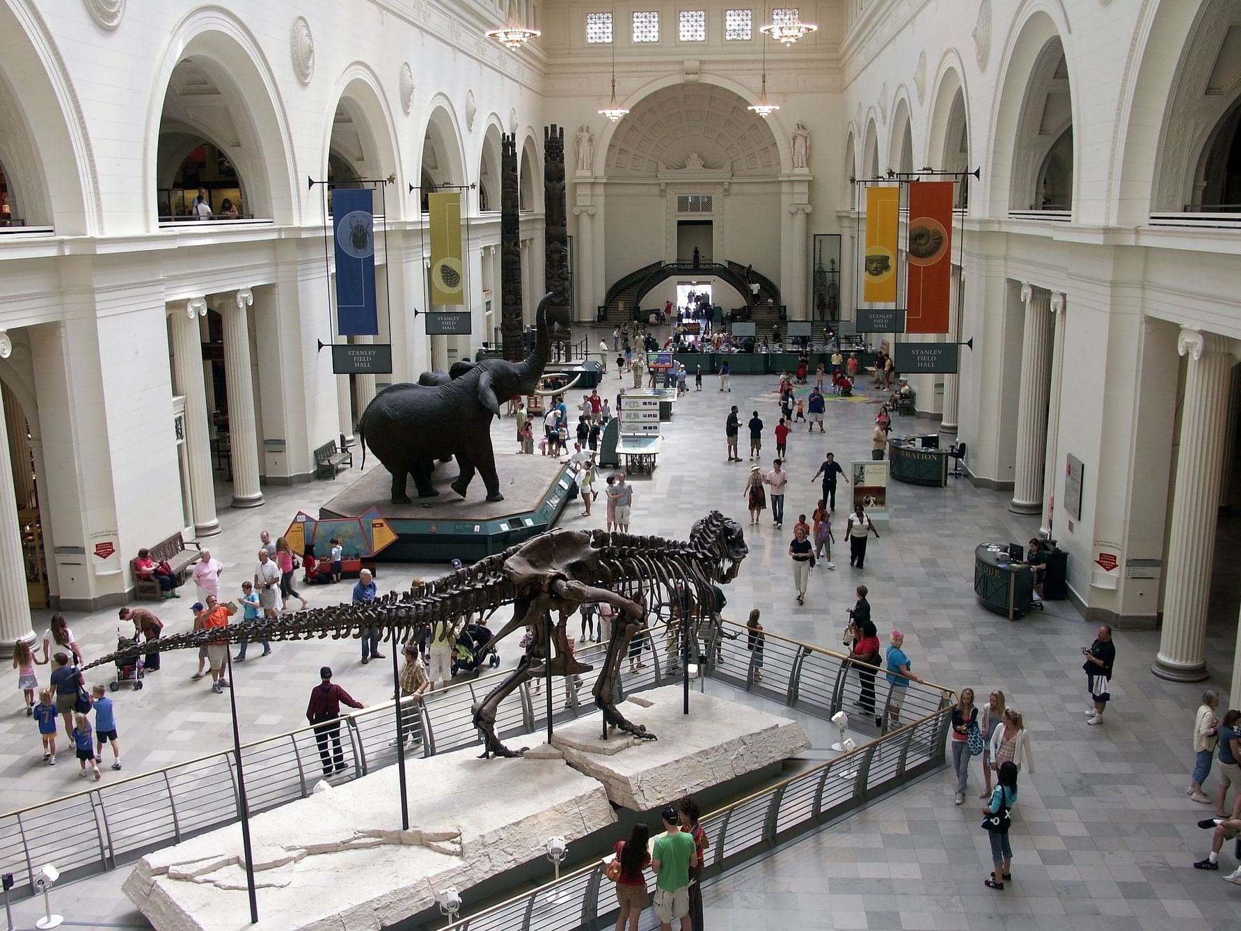
<path id="1" fill-rule="evenodd" d="M 341 336 L 380 334 L 371 196 L 369 187 L 338 187 L 331 192 L 336 241 L 336 331 Z"/>

